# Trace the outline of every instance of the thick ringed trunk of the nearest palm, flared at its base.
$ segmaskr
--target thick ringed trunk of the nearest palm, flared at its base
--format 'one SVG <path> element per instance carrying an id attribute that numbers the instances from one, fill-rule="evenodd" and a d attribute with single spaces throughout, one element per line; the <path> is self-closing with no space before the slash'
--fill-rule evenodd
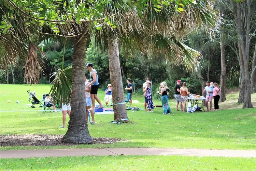
<path id="1" fill-rule="evenodd" d="M 80 40 L 80 41 L 79 41 Z M 92 142 L 88 131 L 85 113 L 85 52 L 87 45 L 86 35 L 74 39 L 74 53 L 72 63 L 72 93 L 71 114 L 68 131 L 63 136 L 62 142 L 83 143 Z"/>

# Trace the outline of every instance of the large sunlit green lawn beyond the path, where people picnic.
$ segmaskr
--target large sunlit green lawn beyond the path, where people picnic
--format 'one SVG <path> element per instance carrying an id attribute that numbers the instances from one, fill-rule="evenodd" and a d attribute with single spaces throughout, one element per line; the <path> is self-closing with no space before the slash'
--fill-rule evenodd
<path id="1" fill-rule="evenodd" d="M 0 135 L 49 134 L 64 135 L 67 129 L 59 129 L 61 113 L 26 112 L 39 110 L 30 108 L 27 90 L 36 90 L 38 99 L 47 93 L 50 85 L 0 85 L 0 110 L 23 110 L 24 112 L 0 112 Z M 103 101 L 104 93 L 99 91 Z M 132 106 L 143 107 L 143 97 L 133 96 L 141 103 Z M 7 103 L 11 100 L 11 103 Z M 20 103 L 16 104 L 16 100 Z M 218 112 L 182 113 L 174 111 L 175 101 L 169 105 L 173 115 L 162 115 L 162 108 L 153 113 L 139 110 L 128 111 L 129 123 L 111 124 L 113 115 L 96 115 L 98 122 L 89 125 L 92 137 L 123 138 L 122 142 L 112 144 L 79 144 L 74 146 L 51 147 L 0 147 L 0 150 L 13 149 L 56 149 L 56 148 L 177 148 L 177 149 L 230 149 L 255 150 L 256 109 L 220 110 Z M 154 100 L 154 104 L 161 101 Z M 68 119 L 67 119 L 68 122 Z"/>

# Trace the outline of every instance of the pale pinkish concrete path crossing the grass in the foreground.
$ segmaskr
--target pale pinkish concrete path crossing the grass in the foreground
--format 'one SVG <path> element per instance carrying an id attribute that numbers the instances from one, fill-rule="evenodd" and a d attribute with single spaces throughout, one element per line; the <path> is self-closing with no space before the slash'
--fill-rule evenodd
<path id="1" fill-rule="evenodd" d="M 62 157 L 89 155 L 184 155 L 184 156 L 223 156 L 256 157 L 256 150 L 198 150 L 198 149 L 51 149 L 51 150 L 8 150 L 0 151 L 0 158 Z"/>

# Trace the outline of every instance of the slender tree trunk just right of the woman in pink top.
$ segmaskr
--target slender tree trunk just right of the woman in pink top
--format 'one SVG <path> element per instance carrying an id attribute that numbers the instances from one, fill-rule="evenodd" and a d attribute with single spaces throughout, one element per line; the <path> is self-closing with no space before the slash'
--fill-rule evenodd
<path id="1" fill-rule="evenodd" d="M 224 27 L 223 27 L 224 28 Z M 226 75 L 227 75 L 227 70 L 226 70 L 226 56 L 225 56 L 225 47 L 222 42 L 222 31 L 220 31 L 220 46 L 221 46 L 221 79 L 220 79 L 220 85 L 221 85 L 221 96 L 220 96 L 220 101 L 224 102 L 226 101 Z"/>

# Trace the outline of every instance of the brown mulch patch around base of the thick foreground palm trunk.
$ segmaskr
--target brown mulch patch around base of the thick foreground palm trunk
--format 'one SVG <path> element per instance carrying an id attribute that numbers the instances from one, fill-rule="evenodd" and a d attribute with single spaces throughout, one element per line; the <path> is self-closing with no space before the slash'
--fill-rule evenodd
<path id="1" fill-rule="evenodd" d="M 74 146 L 61 142 L 63 135 L 0 135 L 0 146 Z M 121 138 L 93 138 L 92 144 L 119 142 Z"/>

